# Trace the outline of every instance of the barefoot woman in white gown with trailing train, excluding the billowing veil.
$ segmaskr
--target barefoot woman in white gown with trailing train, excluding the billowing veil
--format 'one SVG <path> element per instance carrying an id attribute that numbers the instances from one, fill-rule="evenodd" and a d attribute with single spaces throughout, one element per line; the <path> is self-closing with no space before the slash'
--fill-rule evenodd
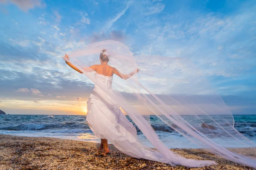
<path id="1" fill-rule="evenodd" d="M 131 122 L 129 122 L 126 116 L 119 109 L 117 102 L 119 102 L 119 104 L 122 103 L 122 108 L 126 108 L 126 111 L 132 109 L 132 107 L 129 106 L 127 102 L 122 101 L 122 98 L 118 97 L 119 95 L 116 96 L 116 92 L 113 92 L 112 90 L 113 74 L 116 74 L 122 79 L 129 79 L 140 70 L 135 69 L 130 74 L 125 75 L 120 73 L 116 68 L 109 66 L 108 61 L 110 57 L 113 59 L 113 51 L 115 52 L 115 50 L 112 50 L 110 53 L 108 53 L 107 50 L 102 50 L 99 57 L 101 64 L 92 65 L 90 67 L 83 67 L 79 65 L 78 60 L 76 60 L 76 62 L 72 61 L 72 63 L 78 64 L 76 67 L 71 63 L 67 54 L 65 57 L 63 57 L 71 68 L 79 73 L 84 73 L 95 83 L 94 89 L 90 94 L 89 100 L 87 101 L 86 120 L 93 133 L 101 139 L 99 149 L 103 148 L 103 154 L 110 152 L 108 149 L 108 141 L 111 141 L 111 143 L 122 153 L 138 159 L 142 158 L 168 163 L 172 166 L 183 165 L 186 167 L 202 167 L 216 164 L 215 161 L 186 159 L 178 156 L 176 153 L 173 153 L 168 147 L 160 142 L 157 133 L 155 133 L 151 125 L 143 120 L 144 118 L 140 117 L 141 115 L 137 115 L 133 117 L 134 119 L 132 117 L 131 119 L 133 119 L 135 123 L 137 122 L 136 125 L 140 127 L 142 132 L 147 131 L 147 138 L 151 141 L 151 143 L 154 144 L 154 146 L 156 146 L 157 150 L 140 144 L 140 142 L 137 140 L 136 128 Z M 121 51 L 119 56 L 122 57 L 122 55 L 125 54 L 126 52 Z M 74 55 L 76 54 L 73 54 L 72 57 Z M 110 57 L 108 57 L 108 55 L 110 55 Z M 75 58 L 73 57 L 73 59 Z M 125 57 L 122 59 L 125 59 Z M 120 60 L 115 61 L 120 62 Z M 115 61 L 111 60 L 111 63 Z M 125 61 L 131 62 L 133 59 L 128 59 Z M 123 65 L 123 67 L 125 67 L 125 65 Z M 122 68 L 122 70 L 124 69 Z M 109 97 L 109 95 L 107 95 L 107 93 L 116 99 L 115 102 Z M 127 107 L 129 108 L 128 110 Z M 131 112 L 135 113 L 136 111 L 128 111 L 128 113 Z"/>

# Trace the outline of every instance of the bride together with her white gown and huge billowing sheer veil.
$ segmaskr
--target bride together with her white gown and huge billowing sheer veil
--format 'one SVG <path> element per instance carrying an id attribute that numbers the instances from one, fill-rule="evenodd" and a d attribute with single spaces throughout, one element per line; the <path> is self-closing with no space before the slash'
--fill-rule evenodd
<path id="1" fill-rule="evenodd" d="M 201 77 L 196 77 L 198 72 L 194 73 L 196 69 L 187 60 L 182 63 L 180 58 L 139 57 L 135 61 L 131 51 L 124 44 L 112 40 L 96 42 L 67 54 L 63 57 L 66 63 L 79 73 L 85 74 L 95 84 L 87 101 L 86 120 L 93 133 L 101 139 L 100 149 L 103 149 L 104 154 L 110 152 L 109 141 L 122 153 L 138 159 L 186 167 L 204 167 L 216 164 L 215 161 L 210 160 L 186 159 L 172 152 L 159 139 L 150 121 L 148 122 L 143 116 L 142 110 L 136 109 L 130 104 L 137 101 L 148 109 L 147 113 L 150 111 L 150 114 L 154 114 L 162 121 L 161 123 L 169 125 L 191 142 L 198 144 L 199 147 L 206 148 L 211 153 L 230 161 L 256 168 L 255 159 L 231 152 L 221 146 L 221 140 L 215 140 L 216 136 L 216 139 L 232 140 L 233 143 L 239 144 L 238 146 L 255 147 L 255 143 L 234 128 L 232 113 L 221 97 L 205 94 L 191 95 L 201 92 L 211 94 L 211 91 L 206 91 L 209 85 L 207 83 L 204 85 Z M 99 59 L 101 64 L 91 64 L 93 59 Z M 111 62 L 113 67 L 108 65 L 108 62 Z M 146 76 L 150 77 L 141 76 L 141 81 L 139 81 L 137 73 L 140 70 L 137 62 L 143 63 L 144 70 L 154 71 L 153 76 L 144 72 Z M 140 68 L 142 69 L 142 67 Z M 174 72 L 175 69 L 177 72 Z M 191 74 L 186 77 L 184 73 L 190 72 Z M 140 71 L 140 74 L 142 73 L 143 71 Z M 126 81 L 125 85 L 115 83 L 121 91 L 112 89 L 113 74 L 125 79 L 122 81 Z M 181 76 L 176 76 L 176 74 Z M 174 78 L 175 76 L 177 79 Z M 151 84 L 145 85 L 147 81 L 151 81 Z M 141 84 L 141 82 L 144 83 Z M 197 87 L 197 85 L 199 86 Z M 151 89 L 155 91 L 155 94 L 151 93 L 148 87 L 153 87 Z M 181 95 L 175 96 L 170 94 L 171 92 L 181 92 Z M 137 140 L 136 128 L 122 113 L 119 106 L 155 149 L 146 147 Z M 181 116 L 183 113 L 190 114 L 189 120 Z M 217 113 L 221 115 L 217 115 Z M 200 122 L 207 122 L 207 125 L 209 122 L 211 125 L 215 125 L 217 131 L 213 133 L 213 131 L 198 127 Z"/>

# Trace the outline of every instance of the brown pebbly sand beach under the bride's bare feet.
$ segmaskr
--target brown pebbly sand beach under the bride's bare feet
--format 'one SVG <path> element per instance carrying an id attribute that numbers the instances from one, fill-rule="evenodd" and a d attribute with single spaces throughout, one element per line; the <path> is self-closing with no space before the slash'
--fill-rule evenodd
<path id="1" fill-rule="evenodd" d="M 172 149 L 186 158 L 215 160 L 211 167 L 171 167 L 168 164 L 127 156 L 110 144 L 111 154 L 102 155 L 99 144 L 48 137 L 0 135 L 0 170 L 254 170 L 202 149 Z M 250 149 L 232 149 L 256 157 Z"/>

